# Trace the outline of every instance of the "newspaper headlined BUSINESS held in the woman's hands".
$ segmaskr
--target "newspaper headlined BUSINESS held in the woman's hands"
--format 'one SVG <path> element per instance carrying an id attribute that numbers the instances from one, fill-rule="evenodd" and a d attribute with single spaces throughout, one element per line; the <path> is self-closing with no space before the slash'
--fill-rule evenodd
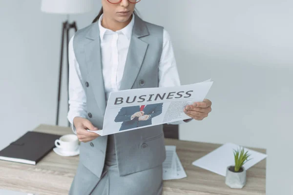
<path id="1" fill-rule="evenodd" d="M 106 136 L 190 118 L 184 108 L 203 101 L 213 81 L 175 87 L 129 89 L 111 92 L 103 129 L 91 131 Z M 90 130 L 88 130 L 90 131 Z"/>

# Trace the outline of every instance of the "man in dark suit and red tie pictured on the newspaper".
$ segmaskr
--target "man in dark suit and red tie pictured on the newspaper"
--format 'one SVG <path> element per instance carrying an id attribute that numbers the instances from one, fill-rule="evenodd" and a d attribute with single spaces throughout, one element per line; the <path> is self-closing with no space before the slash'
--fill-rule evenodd
<path id="1" fill-rule="evenodd" d="M 163 103 L 123 107 L 114 121 L 123 122 L 119 131 L 151 125 L 152 118 L 159 116 L 162 108 Z"/>

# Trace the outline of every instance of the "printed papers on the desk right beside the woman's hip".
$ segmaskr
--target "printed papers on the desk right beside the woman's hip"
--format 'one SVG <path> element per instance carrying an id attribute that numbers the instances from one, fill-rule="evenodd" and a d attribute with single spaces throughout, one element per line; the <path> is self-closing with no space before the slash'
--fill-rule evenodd
<path id="1" fill-rule="evenodd" d="M 163 162 L 163 180 L 184 177 L 186 177 L 186 173 L 176 153 L 176 146 L 166 146 L 166 159 Z"/>

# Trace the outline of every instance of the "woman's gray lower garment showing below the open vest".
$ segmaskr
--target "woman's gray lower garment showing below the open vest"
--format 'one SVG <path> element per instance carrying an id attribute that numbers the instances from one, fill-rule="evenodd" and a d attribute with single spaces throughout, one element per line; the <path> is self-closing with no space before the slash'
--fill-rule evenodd
<path id="1" fill-rule="evenodd" d="M 119 176 L 114 136 L 109 135 L 101 178 L 95 176 L 80 162 L 69 195 L 162 195 L 162 192 L 162 165 Z"/>

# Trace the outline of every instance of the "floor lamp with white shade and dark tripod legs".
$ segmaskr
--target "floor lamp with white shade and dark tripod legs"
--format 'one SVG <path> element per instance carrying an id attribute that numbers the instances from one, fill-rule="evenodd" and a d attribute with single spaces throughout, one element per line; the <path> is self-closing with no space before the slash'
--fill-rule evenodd
<path id="1" fill-rule="evenodd" d="M 64 41 L 66 40 L 66 80 L 68 92 L 68 78 L 69 78 L 69 62 L 68 62 L 68 44 L 69 44 L 69 31 L 74 29 L 77 31 L 76 22 L 69 22 L 69 14 L 82 14 L 91 11 L 93 7 L 93 0 L 42 0 L 41 10 L 45 13 L 63 14 L 67 16 L 67 20 L 62 25 L 61 35 L 61 49 L 60 49 L 60 64 L 59 64 L 59 81 L 58 81 L 58 96 L 57 96 L 57 110 L 56 110 L 56 125 L 59 124 L 59 108 L 61 97 L 61 83 L 62 83 L 62 69 L 63 69 L 63 50 Z M 67 101 L 68 102 L 68 101 Z M 70 123 L 68 122 L 68 126 Z"/>

